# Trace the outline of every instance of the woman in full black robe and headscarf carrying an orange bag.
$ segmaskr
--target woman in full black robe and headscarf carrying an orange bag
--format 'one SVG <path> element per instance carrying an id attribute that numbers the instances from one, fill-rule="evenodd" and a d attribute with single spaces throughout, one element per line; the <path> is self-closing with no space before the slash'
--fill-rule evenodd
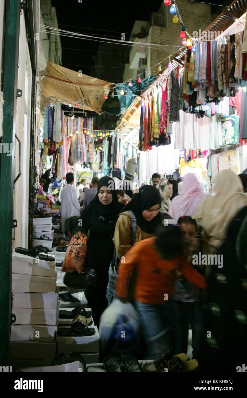
<path id="1" fill-rule="evenodd" d="M 96 325 L 100 315 L 108 306 L 106 287 L 108 283 L 108 269 L 114 254 L 112 238 L 119 212 L 124 205 L 118 202 L 117 190 L 111 177 L 102 177 L 98 181 L 95 199 L 87 205 L 78 220 L 78 231 L 74 237 L 79 238 L 81 233 L 90 236 L 87 242 L 85 266 L 96 271 L 98 285 L 85 290 L 88 307 L 92 308 L 93 319 Z"/>

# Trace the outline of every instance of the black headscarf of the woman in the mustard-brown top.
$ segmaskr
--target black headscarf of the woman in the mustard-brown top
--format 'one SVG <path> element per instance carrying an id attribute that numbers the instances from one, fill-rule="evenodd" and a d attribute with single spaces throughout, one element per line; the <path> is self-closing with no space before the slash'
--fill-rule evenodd
<path id="1" fill-rule="evenodd" d="M 161 213 L 159 212 L 151 221 L 147 221 L 143 218 L 142 212 L 160 204 L 161 197 L 158 189 L 151 185 L 144 185 L 139 189 L 138 193 L 133 195 L 131 201 L 125 206 L 124 211 L 132 210 L 136 217 L 137 225 L 144 232 L 155 235 L 157 227 L 162 222 Z"/>

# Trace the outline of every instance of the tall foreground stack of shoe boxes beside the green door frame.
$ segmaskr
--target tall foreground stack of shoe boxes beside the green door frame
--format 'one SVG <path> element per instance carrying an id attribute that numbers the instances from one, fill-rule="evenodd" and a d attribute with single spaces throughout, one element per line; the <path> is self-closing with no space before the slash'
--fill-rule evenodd
<path id="1" fill-rule="evenodd" d="M 50 365 L 56 355 L 59 289 L 54 261 L 12 254 L 11 364 Z"/>

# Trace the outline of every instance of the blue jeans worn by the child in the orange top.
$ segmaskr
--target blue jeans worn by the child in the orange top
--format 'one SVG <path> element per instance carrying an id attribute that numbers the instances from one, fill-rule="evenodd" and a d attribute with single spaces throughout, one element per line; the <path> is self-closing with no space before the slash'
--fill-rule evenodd
<path id="1" fill-rule="evenodd" d="M 172 300 L 162 304 L 135 301 L 146 345 L 145 359 L 158 359 L 165 351 L 174 352 L 175 326 Z"/>

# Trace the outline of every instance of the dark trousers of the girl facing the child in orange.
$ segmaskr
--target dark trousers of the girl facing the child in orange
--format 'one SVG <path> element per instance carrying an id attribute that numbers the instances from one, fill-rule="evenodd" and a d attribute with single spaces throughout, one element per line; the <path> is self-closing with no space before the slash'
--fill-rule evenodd
<path id="1" fill-rule="evenodd" d="M 187 353 L 187 341 L 189 323 L 192 329 L 193 359 L 201 361 L 202 347 L 204 341 L 203 330 L 203 304 L 202 301 L 185 302 L 173 300 L 176 324 L 175 351 Z"/>

